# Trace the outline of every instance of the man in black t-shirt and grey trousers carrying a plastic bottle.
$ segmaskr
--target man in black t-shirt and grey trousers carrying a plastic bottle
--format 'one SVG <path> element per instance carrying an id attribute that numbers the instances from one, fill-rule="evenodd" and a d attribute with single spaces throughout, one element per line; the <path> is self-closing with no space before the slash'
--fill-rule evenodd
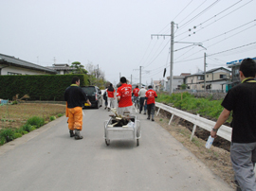
<path id="1" fill-rule="evenodd" d="M 237 190 L 256 190 L 256 62 L 245 59 L 239 70 L 241 83 L 232 87 L 225 96 L 221 104 L 224 109 L 210 135 L 217 137 L 218 129 L 232 111 L 230 158 Z"/>

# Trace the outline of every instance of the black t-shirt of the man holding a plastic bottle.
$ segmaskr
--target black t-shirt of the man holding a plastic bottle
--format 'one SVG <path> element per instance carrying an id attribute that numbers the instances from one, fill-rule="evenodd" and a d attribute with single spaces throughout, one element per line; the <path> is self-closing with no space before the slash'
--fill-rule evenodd
<path id="1" fill-rule="evenodd" d="M 221 104 L 233 111 L 231 141 L 234 143 L 256 142 L 256 82 L 251 80 L 231 88 Z"/>

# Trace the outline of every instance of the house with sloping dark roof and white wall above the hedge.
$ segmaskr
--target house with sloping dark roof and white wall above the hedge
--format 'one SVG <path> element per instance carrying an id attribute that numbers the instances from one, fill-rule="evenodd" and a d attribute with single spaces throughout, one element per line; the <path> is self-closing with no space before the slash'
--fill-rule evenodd
<path id="1" fill-rule="evenodd" d="M 0 75 L 55 75 L 55 70 L 0 54 Z"/>

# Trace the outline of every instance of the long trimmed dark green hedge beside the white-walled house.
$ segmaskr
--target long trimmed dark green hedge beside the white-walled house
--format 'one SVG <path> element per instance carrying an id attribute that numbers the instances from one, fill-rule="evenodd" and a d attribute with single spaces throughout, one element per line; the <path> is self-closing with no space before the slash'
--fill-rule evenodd
<path id="1" fill-rule="evenodd" d="M 0 76 L 0 98 L 12 100 L 13 96 L 28 95 L 29 100 L 64 101 L 64 90 L 73 77 L 80 78 L 80 85 L 89 85 L 87 75 L 27 75 Z"/>

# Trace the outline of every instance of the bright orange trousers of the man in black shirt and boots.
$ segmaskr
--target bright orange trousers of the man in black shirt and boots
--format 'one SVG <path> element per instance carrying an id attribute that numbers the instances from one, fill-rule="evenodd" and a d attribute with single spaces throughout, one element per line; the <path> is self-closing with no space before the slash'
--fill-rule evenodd
<path id="1" fill-rule="evenodd" d="M 68 129 L 82 130 L 82 107 L 68 108 Z"/>

